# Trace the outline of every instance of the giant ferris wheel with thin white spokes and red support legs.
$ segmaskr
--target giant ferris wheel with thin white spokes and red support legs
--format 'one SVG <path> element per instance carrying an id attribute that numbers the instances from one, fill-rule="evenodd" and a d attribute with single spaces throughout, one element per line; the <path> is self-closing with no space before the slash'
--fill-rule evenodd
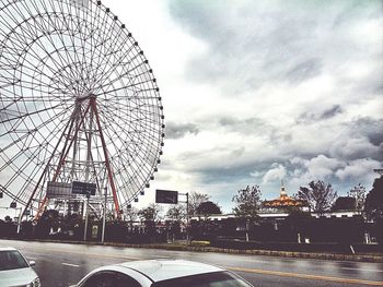
<path id="1" fill-rule="evenodd" d="M 23 214 L 79 181 L 118 215 L 154 179 L 164 128 L 149 61 L 101 1 L 0 1 L 0 191 Z"/>

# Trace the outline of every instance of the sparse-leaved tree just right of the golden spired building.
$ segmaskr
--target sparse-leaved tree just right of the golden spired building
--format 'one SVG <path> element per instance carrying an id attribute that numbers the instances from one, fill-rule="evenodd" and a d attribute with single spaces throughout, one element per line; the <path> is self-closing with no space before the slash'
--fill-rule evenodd
<path id="1" fill-rule="evenodd" d="M 332 184 L 322 180 L 311 181 L 309 187 L 300 187 L 298 194 L 294 195 L 294 198 L 307 202 L 310 211 L 318 215 L 329 211 L 337 196 Z"/>

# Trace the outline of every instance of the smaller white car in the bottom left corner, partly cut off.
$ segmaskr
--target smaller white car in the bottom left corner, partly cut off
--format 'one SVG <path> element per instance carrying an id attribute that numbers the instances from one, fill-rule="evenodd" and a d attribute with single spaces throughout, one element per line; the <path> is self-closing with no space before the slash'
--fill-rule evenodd
<path id="1" fill-rule="evenodd" d="M 33 265 L 16 249 L 0 247 L 0 287 L 40 287 Z"/>

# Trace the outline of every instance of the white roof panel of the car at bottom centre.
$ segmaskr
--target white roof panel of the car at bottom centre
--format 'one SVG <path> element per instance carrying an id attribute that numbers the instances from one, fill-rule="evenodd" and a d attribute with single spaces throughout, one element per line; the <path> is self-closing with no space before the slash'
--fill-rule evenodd
<path id="1" fill-rule="evenodd" d="M 223 271 L 217 266 L 186 260 L 143 260 L 119 265 L 139 272 L 153 282 Z"/>

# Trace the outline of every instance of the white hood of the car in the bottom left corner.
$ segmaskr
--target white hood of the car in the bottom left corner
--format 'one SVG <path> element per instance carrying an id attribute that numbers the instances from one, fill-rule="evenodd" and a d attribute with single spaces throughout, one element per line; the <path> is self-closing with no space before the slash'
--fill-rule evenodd
<path id="1" fill-rule="evenodd" d="M 26 285 L 36 277 L 36 272 L 31 267 L 0 271 L 0 286 Z"/>

